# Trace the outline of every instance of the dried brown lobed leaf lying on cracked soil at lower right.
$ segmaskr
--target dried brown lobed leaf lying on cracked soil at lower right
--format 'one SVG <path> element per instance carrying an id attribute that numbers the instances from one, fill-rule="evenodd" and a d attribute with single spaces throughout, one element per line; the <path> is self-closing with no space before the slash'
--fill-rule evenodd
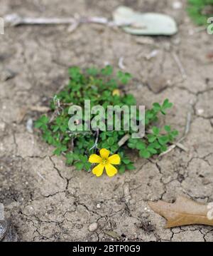
<path id="1" fill-rule="evenodd" d="M 175 203 L 148 202 L 150 208 L 165 217 L 168 222 L 165 227 L 178 227 L 182 225 L 212 225 L 213 226 L 213 205 L 204 205 L 188 198 L 179 196 Z"/>

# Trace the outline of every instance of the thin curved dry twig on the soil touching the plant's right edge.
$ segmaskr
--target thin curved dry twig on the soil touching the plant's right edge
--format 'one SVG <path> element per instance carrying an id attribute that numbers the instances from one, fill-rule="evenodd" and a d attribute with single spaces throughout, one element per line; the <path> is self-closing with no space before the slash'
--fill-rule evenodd
<path id="1" fill-rule="evenodd" d="M 173 145 L 170 145 L 170 147 L 168 148 L 168 150 L 166 150 L 165 152 L 161 153 L 159 156 L 163 156 L 167 153 L 169 153 L 171 150 L 173 150 L 174 148 L 178 147 L 178 148 L 181 148 L 182 150 L 185 150 L 186 152 L 188 151 L 187 148 L 185 148 L 184 145 L 181 144 L 182 140 L 184 140 L 187 136 L 187 134 L 189 133 L 190 131 L 190 124 L 191 124 L 191 121 L 192 121 L 192 103 L 190 103 L 190 109 L 189 111 L 187 112 L 187 119 L 186 119 L 186 125 L 185 125 L 185 130 L 184 130 L 184 133 L 182 135 L 182 138 L 180 138 L 180 140 L 178 140 L 177 143 L 173 144 Z"/>

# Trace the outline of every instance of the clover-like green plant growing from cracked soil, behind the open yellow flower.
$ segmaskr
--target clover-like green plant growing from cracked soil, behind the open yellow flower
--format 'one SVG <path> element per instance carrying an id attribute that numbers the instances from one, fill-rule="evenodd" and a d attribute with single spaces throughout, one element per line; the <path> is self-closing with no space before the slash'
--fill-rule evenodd
<path id="1" fill-rule="evenodd" d="M 91 170 L 89 155 L 106 148 L 111 153 L 120 155 L 119 173 L 133 170 L 134 165 L 126 154 L 126 150 L 138 150 L 142 158 L 151 158 L 167 150 L 168 145 L 178 135 L 177 130 L 165 126 L 163 130 L 157 127 L 159 114 L 165 115 L 173 106 L 168 99 L 162 104 L 153 103 L 146 110 L 146 135 L 141 139 L 131 138 L 133 130 L 82 130 L 71 131 L 68 127 L 70 115 L 68 110 L 72 105 L 84 106 L 84 100 L 89 99 L 92 106 L 133 106 L 136 98 L 131 94 L 120 93 L 120 86 L 126 86 L 131 80 L 130 73 L 119 71 L 114 76 L 111 66 L 105 68 L 88 68 L 82 71 L 79 67 L 69 68 L 70 81 L 50 103 L 51 113 L 40 116 L 35 122 L 45 142 L 55 147 L 55 155 L 64 155 L 67 165 L 75 165 L 77 170 Z M 91 115 L 93 118 L 94 115 Z M 129 138 L 125 143 L 119 143 L 122 138 Z"/>

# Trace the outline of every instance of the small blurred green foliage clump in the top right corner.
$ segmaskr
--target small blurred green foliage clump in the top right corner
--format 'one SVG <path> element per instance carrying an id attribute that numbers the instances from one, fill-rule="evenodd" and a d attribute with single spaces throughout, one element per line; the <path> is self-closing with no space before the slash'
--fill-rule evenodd
<path id="1" fill-rule="evenodd" d="M 213 0 L 188 0 L 187 13 L 198 26 L 207 25 L 213 16 Z"/>

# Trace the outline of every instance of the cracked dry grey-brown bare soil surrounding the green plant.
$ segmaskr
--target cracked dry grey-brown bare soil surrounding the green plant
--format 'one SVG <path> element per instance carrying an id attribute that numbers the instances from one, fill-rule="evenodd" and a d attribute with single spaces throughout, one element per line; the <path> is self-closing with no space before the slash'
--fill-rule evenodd
<path id="1" fill-rule="evenodd" d="M 213 241 L 212 227 L 192 225 L 164 229 L 163 217 L 148 208 L 148 200 L 173 202 L 185 195 L 202 203 L 213 201 L 213 36 L 196 27 L 174 1 L 1 0 L 0 16 L 106 16 L 124 4 L 138 11 L 170 14 L 178 22 L 173 37 L 137 37 L 119 29 L 87 24 L 70 34 L 68 26 L 19 26 L 0 36 L 0 202 L 11 216 L 22 241 L 121 240 Z M 158 54 L 148 58 L 153 50 Z M 173 53 L 180 58 L 187 80 L 182 81 Z M 192 126 L 184 145 L 160 160 L 143 160 L 132 154 L 136 170 L 108 178 L 67 168 L 62 157 L 36 133 L 28 133 L 26 105 L 47 105 L 67 81 L 67 67 L 78 65 L 118 68 L 124 57 L 126 71 L 136 78 L 126 91 L 138 104 L 151 106 L 169 98 L 175 105 L 168 123 L 180 130 L 190 101 Z M 13 78 L 6 80 L 12 71 Z M 6 81 L 5 81 L 6 80 Z M 166 86 L 165 86 L 166 85 Z M 165 119 L 162 118 L 162 124 Z M 129 189 L 129 196 L 124 197 Z M 88 226 L 97 222 L 95 232 Z"/>

